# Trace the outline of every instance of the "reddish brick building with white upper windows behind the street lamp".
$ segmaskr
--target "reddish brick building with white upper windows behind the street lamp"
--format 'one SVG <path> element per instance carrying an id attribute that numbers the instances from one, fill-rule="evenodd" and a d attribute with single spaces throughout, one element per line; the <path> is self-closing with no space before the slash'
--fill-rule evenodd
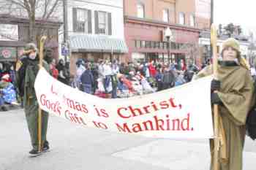
<path id="1" fill-rule="evenodd" d="M 198 39 L 200 31 L 209 28 L 210 18 L 200 13 L 210 7 L 206 0 L 124 0 L 124 35 L 129 47 L 129 61 L 170 61 L 181 59 L 200 61 Z M 200 4 L 198 6 L 198 4 Z M 204 14 L 204 15 L 202 15 Z M 164 31 L 173 32 L 168 43 Z"/>

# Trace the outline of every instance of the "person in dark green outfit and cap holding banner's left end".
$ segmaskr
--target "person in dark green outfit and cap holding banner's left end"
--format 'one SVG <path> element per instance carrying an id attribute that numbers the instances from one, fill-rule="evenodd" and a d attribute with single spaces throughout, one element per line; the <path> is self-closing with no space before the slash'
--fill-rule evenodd
<path id="1" fill-rule="evenodd" d="M 33 149 L 29 152 L 31 155 L 39 154 L 38 142 L 38 101 L 34 90 L 34 82 L 39 71 L 39 55 L 36 45 L 29 43 L 25 47 L 24 55 L 16 66 L 16 86 L 20 97 L 23 98 L 23 107 L 26 115 L 26 121 L 29 127 L 31 145 Z M 43 67 L 49 72 L 50 67 L 45 61 Z M 46 139 L 48 127 L 48 113 L 42 111 L 42 152 L 49 150 L 49 143 Z"/>

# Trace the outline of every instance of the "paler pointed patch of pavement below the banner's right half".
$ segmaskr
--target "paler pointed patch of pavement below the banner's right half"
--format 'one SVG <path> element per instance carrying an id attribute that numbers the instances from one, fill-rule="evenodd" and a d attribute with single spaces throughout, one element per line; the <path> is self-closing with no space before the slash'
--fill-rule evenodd
<path id="1" fill-rule="evenodd" d="M 206 170 L 210 164 L 208 140 L 189 142 L 159 139 L 116 152 L 113 156 L 150 163 L 170 170 Z M 255 152 L 244 152 L 244 170 L 255 170 L 255 159 Z"/>

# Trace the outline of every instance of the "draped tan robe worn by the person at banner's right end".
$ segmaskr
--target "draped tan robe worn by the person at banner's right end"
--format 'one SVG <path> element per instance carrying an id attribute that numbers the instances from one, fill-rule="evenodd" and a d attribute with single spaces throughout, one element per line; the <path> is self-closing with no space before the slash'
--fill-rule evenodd
<path id="1" fill-rule="evenodd" d="M 212 66 L 206 66 L 195 79 L 212 74 Z M 222 104 L 219 105 L 219 132 L 222 142 L 219 149 L 221 170 L 241 170 L 246 117 L 254 104 L 254 87 L 249 70 L 242 66 L 218 66 L 221 82 L 217 92 Z M 214 142 L 211 140 L 211 158 Z M 213 163 L 213 159 L 211 160 Z M 211 165 L 212 168 L 212 165 Z"/>

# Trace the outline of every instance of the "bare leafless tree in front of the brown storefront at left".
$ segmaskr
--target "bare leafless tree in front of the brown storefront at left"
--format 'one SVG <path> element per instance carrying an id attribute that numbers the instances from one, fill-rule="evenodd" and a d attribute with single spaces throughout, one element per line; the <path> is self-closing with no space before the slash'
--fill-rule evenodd
<path id="1" fill-rule="evenodd" d="M 61 0 L 0 0 L 1 13 L 29 19 L 30 42 L 36 42 L 36 34 L 43 32 L 41 28 L 41 31 L 36 33 L 36 18 L 42 23 L 47 22 L 55 17 L 60 6 Z"/>

